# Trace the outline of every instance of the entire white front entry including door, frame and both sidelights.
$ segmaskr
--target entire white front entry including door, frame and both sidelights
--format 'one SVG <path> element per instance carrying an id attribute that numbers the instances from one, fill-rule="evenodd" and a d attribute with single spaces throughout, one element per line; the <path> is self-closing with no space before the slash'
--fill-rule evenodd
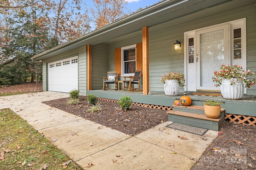
<path id="1" fill-rule="evenodd" d="M 246 68 L 245 18 L 184 33 L 184 90 L 220 91 L 212 77 L 221 64 Z"/>

